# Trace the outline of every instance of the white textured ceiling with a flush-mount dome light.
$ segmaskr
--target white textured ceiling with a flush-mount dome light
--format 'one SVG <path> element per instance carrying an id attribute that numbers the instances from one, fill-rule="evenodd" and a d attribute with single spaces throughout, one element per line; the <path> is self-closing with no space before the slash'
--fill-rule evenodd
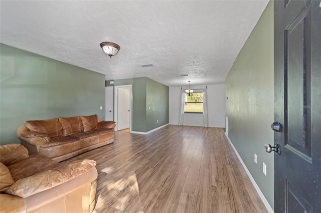
<path id="1" fill-rule="evenodd" d="M 105 74 L 168 86 L 224 83 L 268 0 L 0 1 L 0 41 Z M 103 41 L 120 45 L 109 58 Z M 152 63 L 153 66 L 142 67 Z M 181 76 L 181 74 L 190 74 Z"/>

